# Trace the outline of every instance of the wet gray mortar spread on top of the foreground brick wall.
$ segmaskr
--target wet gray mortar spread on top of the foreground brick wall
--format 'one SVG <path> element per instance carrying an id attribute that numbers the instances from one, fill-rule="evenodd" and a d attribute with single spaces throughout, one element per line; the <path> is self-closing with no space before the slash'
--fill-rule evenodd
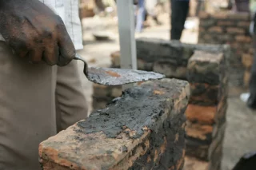
<path id="1" fill-rule="evenodd" d="M 187 84 L 186 81 L 173 79 L 168 83 L 157 81 L 154 85 L 143 85 L 127 89 L 122 93 L 122 97 L 114 100 L 106 109 L 98 110 L 90 115 L 86 121 L 80 121 L 78 126 L 85 129 L 86 133 L 104 132 L 107 137 L 115 138 L 123 128 L 130 128 L 135 131 L 134 138 L 142 136 L 142 128 L 154 128 L 154 121 L 164 113 L 164 109 L 170 107 L 166 102 L 167 98 L 180 93 L 182 88 Z M 165 94 L 155 95 L 154 89 L 163 89 Z"/>

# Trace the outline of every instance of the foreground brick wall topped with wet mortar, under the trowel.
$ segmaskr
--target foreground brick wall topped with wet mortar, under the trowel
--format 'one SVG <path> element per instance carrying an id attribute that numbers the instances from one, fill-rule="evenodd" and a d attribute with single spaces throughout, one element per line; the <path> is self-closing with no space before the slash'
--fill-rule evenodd
<path id="1" fill-rule="evenodd" d="M 189 84 L 175 79 L 127 89 L 106 109 L 43 141 L 42 168 L 182 170 L 189 93 Z"/>

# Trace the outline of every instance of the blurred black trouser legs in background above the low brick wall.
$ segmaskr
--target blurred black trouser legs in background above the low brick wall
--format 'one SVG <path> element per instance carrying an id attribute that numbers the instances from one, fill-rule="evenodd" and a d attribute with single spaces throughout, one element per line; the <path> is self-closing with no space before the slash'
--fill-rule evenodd
<path id="1" fill-rule="evenodd" d="M 190 9 L 190 0 L 171 0 L 170 39 L 180 40 L 186 17 Z"/>

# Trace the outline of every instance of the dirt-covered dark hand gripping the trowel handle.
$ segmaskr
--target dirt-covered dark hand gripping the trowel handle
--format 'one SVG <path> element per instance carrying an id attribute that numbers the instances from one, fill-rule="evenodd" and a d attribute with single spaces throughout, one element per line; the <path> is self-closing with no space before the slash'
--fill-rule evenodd
<path id="1" fill-rule="evenodd" d="M 32 63 L 64 66 L 75 55 L 62 18 L 38 0 L 0 0 L 0 34 Z"/>

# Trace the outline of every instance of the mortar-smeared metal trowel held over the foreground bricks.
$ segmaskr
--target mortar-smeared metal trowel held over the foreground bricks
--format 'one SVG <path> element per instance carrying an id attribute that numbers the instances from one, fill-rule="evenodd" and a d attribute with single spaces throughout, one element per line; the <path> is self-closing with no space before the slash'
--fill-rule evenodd
<path id="1" fill-rule="evenodd" d="M 76 54 L 74 60 L 84 62 L 83 73 L 89 81 L 100 85 L 125 85 L 140 81 L 150 81 L 162 79 L 165 75 L 161 73 L 147 72 L 135 69 L 113 69 L 113 68 L 100 68 L 88 67 L 86 61 Z"/>

